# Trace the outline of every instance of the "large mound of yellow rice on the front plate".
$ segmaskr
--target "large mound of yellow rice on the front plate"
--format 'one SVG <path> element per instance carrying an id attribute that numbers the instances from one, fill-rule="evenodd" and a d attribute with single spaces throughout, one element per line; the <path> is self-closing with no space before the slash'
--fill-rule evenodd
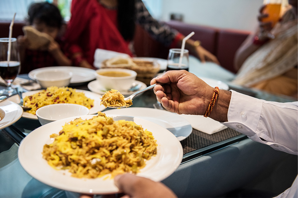
<path id="1" fill-rule="evenodd" d="M 43 158 L 78 178 L 139 172 L 157 152 L 152 133 L 133 121 L 98 114 L 89 120 L 77 118 L 66 123 L 59 135 L 52 134 L 55 140 L 44 145 Z"/>

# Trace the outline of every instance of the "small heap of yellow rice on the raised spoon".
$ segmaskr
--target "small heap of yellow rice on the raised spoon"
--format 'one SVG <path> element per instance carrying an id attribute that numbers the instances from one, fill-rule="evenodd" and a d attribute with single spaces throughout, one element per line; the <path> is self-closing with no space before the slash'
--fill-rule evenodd
<path id="1" fill-rule="evenodd" d="M 118 90 L 111 89 L 105 92 L 100 104 L 103 104 L 105 107 L 131 106 L 132 100 L 124 100 L 124 96 Z"/>

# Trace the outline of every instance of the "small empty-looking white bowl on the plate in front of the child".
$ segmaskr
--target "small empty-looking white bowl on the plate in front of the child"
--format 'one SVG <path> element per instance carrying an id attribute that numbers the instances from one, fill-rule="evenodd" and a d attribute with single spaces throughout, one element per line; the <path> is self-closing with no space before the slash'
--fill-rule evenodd
<path id="1" fill-rule="evenodd" d="M 72 72 L 61 71 L 58 69 L 44 70 L 36 72 L 34 78 L 42 88 L 47 88 L 50 86 L 66 87 L 70 83 Z"/>

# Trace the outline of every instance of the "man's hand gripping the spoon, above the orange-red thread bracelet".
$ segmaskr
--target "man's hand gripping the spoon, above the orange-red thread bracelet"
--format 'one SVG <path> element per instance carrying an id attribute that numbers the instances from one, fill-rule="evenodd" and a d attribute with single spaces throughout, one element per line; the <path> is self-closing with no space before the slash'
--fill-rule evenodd
<path id="1" fill-rule="evenodd" d="M 165 109 L 178 114 L 203 115 L 212 98 L 214 88 L 185 70 L 168 71 L 153 78 L 154 93 Z"/>

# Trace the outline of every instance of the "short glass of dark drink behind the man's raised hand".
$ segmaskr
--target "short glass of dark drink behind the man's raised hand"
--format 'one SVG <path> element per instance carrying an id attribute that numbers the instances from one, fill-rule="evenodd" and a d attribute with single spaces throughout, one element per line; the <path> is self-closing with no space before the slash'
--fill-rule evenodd
<path id="1" fill-rule="evenodd" d="M 184 69 L 188 71 L 189 67 L 189 52 L 188 50 L 183 50 L 182 54 L 182 61 L 180 62 L 180 55 L 181 55 L 181 49 L 174 48 L 169 50 L 169 56 L 167 59 L 167 70 L 181 70 Z"/>

